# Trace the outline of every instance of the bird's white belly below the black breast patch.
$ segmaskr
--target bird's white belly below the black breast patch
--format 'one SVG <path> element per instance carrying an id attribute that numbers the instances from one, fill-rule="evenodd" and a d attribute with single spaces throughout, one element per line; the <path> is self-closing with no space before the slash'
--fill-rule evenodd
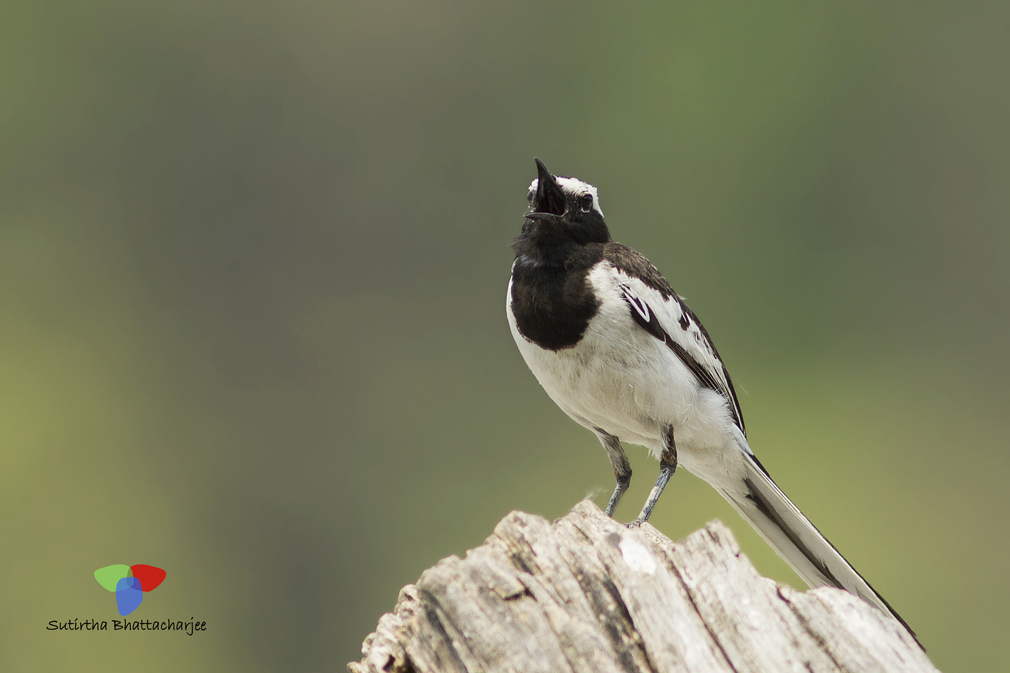
<path id="1" fill-rule="evenodd" d="M 519 352 L 550 399 L 577 423 L 640 444 L 659 458 L 673 426 L 681 464 L 708 472 L 735 428 L 725 400 L 698 384 L 665 343 L 641 329 L 614 291 L 602 301 L 583 339 L 571 348 L 544 350 L 523 337 L 506 298 L 509 327 Z M 734 442 L 735 443 L 735 442 Z M 715 465 L 711 466 L 715 468 Z"/>

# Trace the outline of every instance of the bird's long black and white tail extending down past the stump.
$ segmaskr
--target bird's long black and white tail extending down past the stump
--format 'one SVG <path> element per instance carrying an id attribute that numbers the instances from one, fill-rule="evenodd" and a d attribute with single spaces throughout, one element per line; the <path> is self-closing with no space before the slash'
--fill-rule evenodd
<path id="1" fill-rule="evenodd" d="M 918 643 L 915 632 L 782 492 L 753 454 L 743 455 L 746 467 L 742 486 L 716 486 L 733 509 L 811 588 L 834 586 L 860 596 L 894 615 Z"/>

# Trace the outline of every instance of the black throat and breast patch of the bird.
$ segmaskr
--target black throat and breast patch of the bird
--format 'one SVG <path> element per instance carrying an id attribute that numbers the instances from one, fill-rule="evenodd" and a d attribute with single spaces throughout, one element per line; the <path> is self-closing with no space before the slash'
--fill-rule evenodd
<path id="1" fill-rule="evenodd" d="M 603 259 L 605 246 L 604 242 L 544 236 L 524 227 L 512 241 L 515 265 L 510 298 L 522 336 L 554 351 L 582 340 L 600 308 L 587 274 Z"/>

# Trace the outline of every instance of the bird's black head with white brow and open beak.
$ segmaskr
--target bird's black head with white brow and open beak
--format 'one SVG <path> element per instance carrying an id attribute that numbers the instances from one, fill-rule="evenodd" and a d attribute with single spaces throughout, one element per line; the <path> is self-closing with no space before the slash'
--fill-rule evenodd
<path id="1" fill-rule="evenodd" d="M 546 241 L 606 243 L 610 232 L 596 188 L 575 178 L 552 176 L 543 161 L 536 161 L 537 179 L 529 186 L 529 211 L 522 233 Z"/>

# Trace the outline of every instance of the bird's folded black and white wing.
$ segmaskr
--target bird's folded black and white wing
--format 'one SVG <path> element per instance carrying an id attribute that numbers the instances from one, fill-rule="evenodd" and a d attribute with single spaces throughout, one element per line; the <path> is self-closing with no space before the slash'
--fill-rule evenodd
<path id="1" fill-rule="evenodd" d="M 733 423 L 746 436 L 733 382 L 701 321 L 655 266 L 631 248 L 618 245 L 611 244 L 606 256 L 613 268 L 613 281 L 631 317 L 642 329 L 666 343 L 701 385 L 726 399 Z"/>

